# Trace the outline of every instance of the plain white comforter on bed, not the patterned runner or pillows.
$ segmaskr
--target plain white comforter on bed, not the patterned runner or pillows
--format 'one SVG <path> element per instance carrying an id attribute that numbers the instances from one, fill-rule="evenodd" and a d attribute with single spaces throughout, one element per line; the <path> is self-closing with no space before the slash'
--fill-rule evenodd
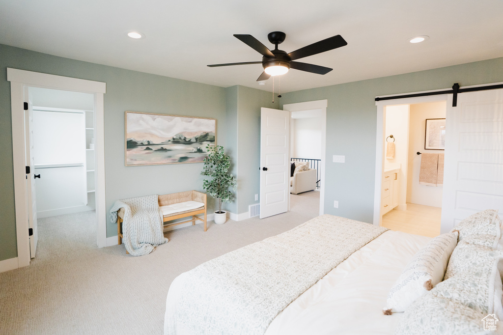
<path id="1" fill-rule="evenodd" d="M 270 323 L 266 335 L 392 334 L 401 315 L 383 315 L 386 296 L 408 261 L 429 240 L 402 232 L 383 233 L 288 305 Z M 173 281 L 167 295 L 165 331 L 179 304 L 184 276 Z M 183 324 L 177 324 L 176 333 L 196 335 Z"/>

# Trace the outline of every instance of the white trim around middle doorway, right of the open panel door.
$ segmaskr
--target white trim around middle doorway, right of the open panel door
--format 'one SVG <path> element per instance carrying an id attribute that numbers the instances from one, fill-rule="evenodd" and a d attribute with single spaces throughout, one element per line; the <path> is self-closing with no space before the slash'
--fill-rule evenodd
<path id="1" fill-rule="evenodd" d="M 307 111 L 312 109 L 320 109 L 321 110 L 321 172 L 320 172 L 320 194 L 319 194 L 319 215 L 323 215 L 324 205 L 325 205 L 325 163 L 326 163 L 326 108 L 328 107 L 328 100 L 315 100 L 315 101 L 306 101 L 295 104 L 287 104 L 283 105 L 283 110 L 290 112 L 297 111 Z M 290 193 L 288 193 L 288 197 L 290 198 Z M 290 202 L 290 200 L 289 200 Z"/>

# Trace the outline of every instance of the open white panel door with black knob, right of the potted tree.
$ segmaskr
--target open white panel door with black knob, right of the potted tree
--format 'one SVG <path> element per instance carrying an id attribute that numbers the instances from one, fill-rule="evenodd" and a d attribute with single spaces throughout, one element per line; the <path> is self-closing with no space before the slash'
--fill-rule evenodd
<path id="1" fill-rule="evenodd" d="M 261 108 L 260 218 L 288 211 L 290 112 Z"/>

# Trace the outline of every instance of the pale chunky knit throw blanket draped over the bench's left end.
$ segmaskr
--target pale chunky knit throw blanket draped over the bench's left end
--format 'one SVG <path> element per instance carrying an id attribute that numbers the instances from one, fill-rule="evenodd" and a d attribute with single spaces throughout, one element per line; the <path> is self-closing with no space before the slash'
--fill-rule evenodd
<path id="1" fill-rule="evenodd" d="M 150 254 L 157 245 L 167 242 L 157 199 L 155 194 L 117 200 L 110 210 L 112 222 L 117 222 L 117 211 L 124 208 L 122 241 L 132 256 Z"/>

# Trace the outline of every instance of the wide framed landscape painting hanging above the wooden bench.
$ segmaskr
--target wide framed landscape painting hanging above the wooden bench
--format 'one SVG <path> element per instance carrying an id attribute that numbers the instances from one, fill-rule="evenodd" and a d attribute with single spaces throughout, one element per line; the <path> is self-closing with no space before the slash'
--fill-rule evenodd
<path id="1" fill-rule="evenodd" d="M 126 112 L 126 166 L 202 162 L 216 120 Z"/>

